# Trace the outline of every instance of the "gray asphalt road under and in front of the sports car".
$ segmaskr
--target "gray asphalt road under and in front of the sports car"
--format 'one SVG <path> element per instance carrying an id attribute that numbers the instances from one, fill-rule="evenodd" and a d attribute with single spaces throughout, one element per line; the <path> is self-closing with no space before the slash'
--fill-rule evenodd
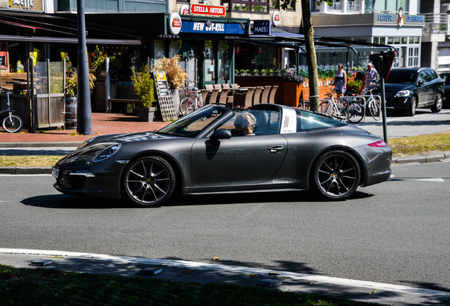
<path id="1" fill-rule="evenodd" d="M 446 161 L 449 161 L 448 159 Z M 343 202 L 195 196 L 162 208 L 64 196 L 0 176 L 0 247 L 185 259 L 450 290 L 450 162 L 393 166 Z"/>

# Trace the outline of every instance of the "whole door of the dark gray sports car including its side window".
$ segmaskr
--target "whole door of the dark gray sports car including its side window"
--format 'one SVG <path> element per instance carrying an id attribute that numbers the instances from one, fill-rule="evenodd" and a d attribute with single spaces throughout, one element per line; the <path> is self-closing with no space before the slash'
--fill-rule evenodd
<path id="1" fill-rule="evenodd" d="M 243 118 L 251 122 L 248 135 L 241 132 Z M 191 153 L 192 186 L 241 186 L 270 179 L 287 152 L 287 140 L 279 134 L 280 120 L 276 111 L 242 111 L 216 129 L 228 130 L 231 138 L 197 140 Z"/>

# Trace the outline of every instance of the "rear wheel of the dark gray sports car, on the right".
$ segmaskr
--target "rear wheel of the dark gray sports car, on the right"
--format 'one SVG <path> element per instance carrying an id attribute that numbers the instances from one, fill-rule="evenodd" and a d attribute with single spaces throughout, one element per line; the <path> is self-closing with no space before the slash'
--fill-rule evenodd
<path id="1" fill-rule="evenodd" d="M 313 176 L 320 196 L 328 200 L 344 200 L 357 190 L 361 171 L 352 155 L 331 151 L 319 157 Z"/>

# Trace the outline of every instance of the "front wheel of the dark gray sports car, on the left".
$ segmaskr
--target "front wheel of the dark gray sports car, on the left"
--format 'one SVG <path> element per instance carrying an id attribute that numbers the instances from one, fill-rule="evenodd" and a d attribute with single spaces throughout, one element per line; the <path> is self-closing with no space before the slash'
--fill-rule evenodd
<path id="1" fill-rule="evenodd" d="M 127 166 L 123 183 L 132 203 L 158 206 L 173 195 L 175 172 L 166 159 L 142 157 Z"/>

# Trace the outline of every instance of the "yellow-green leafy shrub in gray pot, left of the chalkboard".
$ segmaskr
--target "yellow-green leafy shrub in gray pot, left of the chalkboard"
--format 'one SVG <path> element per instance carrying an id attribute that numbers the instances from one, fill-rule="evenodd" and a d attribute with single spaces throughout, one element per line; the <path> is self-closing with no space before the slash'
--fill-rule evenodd
<path id="1" fill-rule="evenodd" d="M 134 94 L 140 102 L 136 108 L 139 121 L 152 122 L 156 112 L 155 81 L 149 72 L 149 65 L 141 67 L 140 72 L 136 72 L 132 67 L 132 82 Z"/>

